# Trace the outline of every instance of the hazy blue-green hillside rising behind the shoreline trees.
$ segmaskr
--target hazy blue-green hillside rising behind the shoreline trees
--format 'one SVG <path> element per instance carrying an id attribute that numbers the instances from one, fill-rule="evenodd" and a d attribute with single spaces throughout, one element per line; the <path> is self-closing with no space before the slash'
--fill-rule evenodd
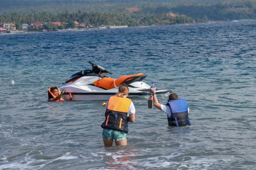
<path id="1" fill-rule="evenodd" d="M 233 20 L 256 18 L 256 0 L 0 0 L 0 15 L 46 12 L 129 13 L 137 15 L 174 12 L 196 19 Z"/>

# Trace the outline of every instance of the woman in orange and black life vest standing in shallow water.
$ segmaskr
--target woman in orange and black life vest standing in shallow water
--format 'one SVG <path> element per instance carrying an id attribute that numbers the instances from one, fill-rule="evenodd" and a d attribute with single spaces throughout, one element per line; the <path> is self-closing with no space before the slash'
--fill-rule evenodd
<path id="1" fill-rule="evenodd" d="M 105 121 L 101 124 L 103 128 L 102 137 L 105 147 L 127 145 L 128 121 L 135 121 L 135 106 L 131 99 L 128 99 L 129 88 L 125 84 L 119 85 L 118 93 L 110 97 L 104 106 Z"/>

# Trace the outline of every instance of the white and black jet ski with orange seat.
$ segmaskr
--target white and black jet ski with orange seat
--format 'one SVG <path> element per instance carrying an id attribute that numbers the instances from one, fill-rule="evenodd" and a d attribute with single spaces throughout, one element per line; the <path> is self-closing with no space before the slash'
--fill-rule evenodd
<path id="1" fill-rule="evenodd" d="M 97 101 L 108 100 L 111 96 L 118 93 L 118 86 L 126 84 L 129 87 L 129 98 L 148 97 L 150 85 L 143 82 L 147 75 L 137 73 L 123 75 L 117 79 L 107 76 L 113 74 L 107 69 L 89 62 L 92 69 L 81 70 L 69 77 L 59 89 L 66 92 L 62 98 L 69 100 L 69 93 L 72 93 L 73 101 Z M 156 89 L 156 94 L 169 93 L 167 89 Z"/>

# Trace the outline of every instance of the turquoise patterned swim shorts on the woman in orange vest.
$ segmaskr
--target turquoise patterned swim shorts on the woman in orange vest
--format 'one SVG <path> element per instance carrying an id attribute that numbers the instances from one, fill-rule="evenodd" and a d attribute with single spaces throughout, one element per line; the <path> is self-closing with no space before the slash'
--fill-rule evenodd
<path id="1" fill-rule="evenodd" d="M 102 136 L 107 140 L 111 140 L 111 139 L 114 139 L 115 141 L 127 140 L 126 133 L 117 131 L 117 130 L 112 130 L 112 129 L 103 129 Z"/>

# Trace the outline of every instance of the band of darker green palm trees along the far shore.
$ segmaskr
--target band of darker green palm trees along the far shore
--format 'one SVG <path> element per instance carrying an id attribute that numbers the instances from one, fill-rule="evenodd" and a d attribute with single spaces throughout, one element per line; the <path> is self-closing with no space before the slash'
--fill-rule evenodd
<path id="1" fill-rule="evenodd" d="M 16 29 L 21 29 L 21 24 L 28 24 L 34 22 L 41 22 L 42 29 L 67 29 L 77 27 L 74 21 L 85 23 L 86 25 L 93 25 L 99 27 L 101 25 L 128 25 L 129 27 L 145 26 L 145 25 L 169 25 L 180 23 L 192 23 L 194 19 L 191 17 L 176 15 L 170 16 L 168 14 L 153 14 L 153 15 L 131 15 L 128 13 L 99 13 L 99 12 L 81 12 L 70 13 L 66 11 L 62 14 L 51 14 L 47 12 L 33 12 L 28 15 L 20 15 L 18 13 L 11 13 L 5 16 L 0 16 L 0 23 L 15 23 Z M 65 23 L 57 26 L 52 22 Z"/>

